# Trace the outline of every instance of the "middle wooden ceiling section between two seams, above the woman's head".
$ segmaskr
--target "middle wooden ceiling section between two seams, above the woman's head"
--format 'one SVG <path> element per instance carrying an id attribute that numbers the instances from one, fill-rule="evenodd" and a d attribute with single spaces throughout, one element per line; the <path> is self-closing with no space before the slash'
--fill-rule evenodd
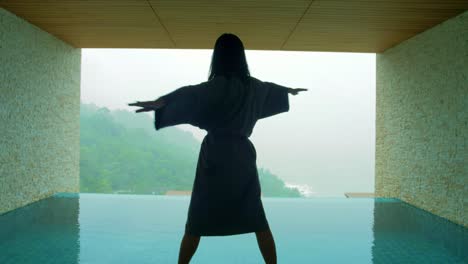
<path id="1" fill-rule="evenodd" d="M 249 49 L 280 49 L 310 0 L 150 0 L 178 48 L 212 48 L 224 33 Z"/>

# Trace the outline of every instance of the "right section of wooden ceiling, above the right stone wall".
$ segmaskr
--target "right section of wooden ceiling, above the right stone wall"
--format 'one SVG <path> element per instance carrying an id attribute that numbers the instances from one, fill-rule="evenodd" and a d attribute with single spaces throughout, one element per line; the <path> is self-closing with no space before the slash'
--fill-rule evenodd
<path id="1" fill-rule="evenodd" d="M 316 0 L 283 48 L 383 52 L 466 9 L 466 0 Z"/>

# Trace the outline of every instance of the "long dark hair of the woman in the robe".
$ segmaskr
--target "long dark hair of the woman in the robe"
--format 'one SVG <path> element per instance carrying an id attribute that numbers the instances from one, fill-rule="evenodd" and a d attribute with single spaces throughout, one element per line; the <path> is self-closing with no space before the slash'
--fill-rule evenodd
<path id="1" fill-rule="evenodd" d="M 234 34 L 224 33 L 216 40 L 208 80 L 216 76 L 238 76 L 244 81 L 250 77 L 244 44 Z"/>

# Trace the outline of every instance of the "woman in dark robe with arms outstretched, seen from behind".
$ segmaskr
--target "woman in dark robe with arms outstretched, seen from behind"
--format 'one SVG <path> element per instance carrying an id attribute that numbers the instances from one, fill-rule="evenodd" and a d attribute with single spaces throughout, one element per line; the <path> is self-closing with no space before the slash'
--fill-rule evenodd
<path id="1" fill-rule="evenodd" d="M 155 128 L 191 124 L 205 129 L 182 238 L 179 263 L 189 263 L 201 236 L 255 232 L 266 263 L 276 263 L 273 235 L 260 197 L 257 154 L 248 139 L 258 119 L 289 111 L 292 89 L 250 76 L 242 41 L 223 34 L 208 81 L 154 101 L 129 104 L 155 111 Z"/>

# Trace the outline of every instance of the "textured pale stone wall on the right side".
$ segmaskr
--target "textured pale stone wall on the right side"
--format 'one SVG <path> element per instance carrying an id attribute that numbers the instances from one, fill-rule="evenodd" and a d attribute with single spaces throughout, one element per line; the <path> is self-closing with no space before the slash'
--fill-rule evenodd
<path id="1" fill-rule="evenodd" d="M 468 226 L 468 12 L 377 55 L 375 191 Z"/>

